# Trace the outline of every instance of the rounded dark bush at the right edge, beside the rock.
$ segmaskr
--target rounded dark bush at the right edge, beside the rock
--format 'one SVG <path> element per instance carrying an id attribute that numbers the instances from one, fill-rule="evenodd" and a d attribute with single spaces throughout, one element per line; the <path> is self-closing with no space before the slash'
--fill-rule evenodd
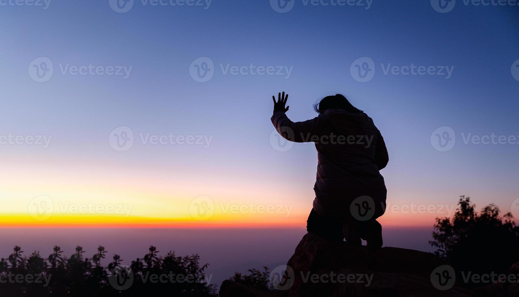
<path id="1" fill-rule="evenodd" d="M 470 198 L 460 196 L 454 217 L 436 218 L 431 246 L 436 254 L 453 265 L 457 277 L 471 274 L 506 274 L 519 261 L 519 227 L 512 214 L 499 215 L 499 208 L 489 204 L 479 214 Z M 458 275 L 459 274 L 459 275 Z M 471 283 L 470 287 L 488 283 Z"/>

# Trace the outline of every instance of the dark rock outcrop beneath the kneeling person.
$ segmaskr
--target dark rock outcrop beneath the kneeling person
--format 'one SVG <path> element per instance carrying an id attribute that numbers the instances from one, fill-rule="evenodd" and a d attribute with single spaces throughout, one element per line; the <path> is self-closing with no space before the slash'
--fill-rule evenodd
<path id="1" fill-rule="evenodd" d="M 448 269 L 452 267 L 431 253 L 349 246 L 308 233 L 286 266 L 272 269 L 271 282 L 278 283 L 278 290 L 265 292 L 224 281 L 220 296 L 519 296 L 517 283 L 474 291 L 461 288 L 459 278 L 452 277 L 454 270 Z M 513 269 L 519 270 L 519 263 L 511 273 Z"/>

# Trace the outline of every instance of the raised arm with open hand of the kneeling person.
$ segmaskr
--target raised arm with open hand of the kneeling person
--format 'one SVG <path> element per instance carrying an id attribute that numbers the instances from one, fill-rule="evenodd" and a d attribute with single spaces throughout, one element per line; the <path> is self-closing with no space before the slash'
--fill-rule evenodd
<path id="1" fill-rule="evenodd" d="M 316 138 L 314 136 L 317 136 L 320 131 L 319 119 L 314 118 L 304 122 L 292 122 L 285 114 L 289 110 L 288 106 L 285 108 L 288 97 L 288 94 L 285 97 L 285 92 L 283 94 L 279 93 L 278 101 L 276 102 L 276 97 L 272 96 L 272 100 L 274 100 L 274 115 L 272 115 L 270 121 L 272 121 L 278 133 L 286 140 L 296 143 L 315 141 Z"/>

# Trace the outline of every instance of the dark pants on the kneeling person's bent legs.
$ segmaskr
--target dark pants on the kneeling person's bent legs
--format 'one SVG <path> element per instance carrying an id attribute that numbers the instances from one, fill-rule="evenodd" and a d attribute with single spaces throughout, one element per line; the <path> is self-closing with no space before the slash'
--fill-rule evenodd
<path id="1" fill-rule="evenodd" d="M 306 221 L 306 230 L 313 232 L 329 241 L 341 242 L 346 237 L 349 243 L 359 245 L 360 239 L 367 240 L 367 231 L 375 219 L 360 222 L 354 218 L 336 218 L 319 215 L 312 209 Z M 378 224 L 378 222 L 376 222 Z M 379 225 L 379 224 L 378 224 Z M 381 239 L 380 239 L 381 241 Z M 369 244 L 369 243 L 368 243 Z M 375 243 L 378 244 L 378 243 Z M 380 246 L 381 246 L 380 242 Z"/>

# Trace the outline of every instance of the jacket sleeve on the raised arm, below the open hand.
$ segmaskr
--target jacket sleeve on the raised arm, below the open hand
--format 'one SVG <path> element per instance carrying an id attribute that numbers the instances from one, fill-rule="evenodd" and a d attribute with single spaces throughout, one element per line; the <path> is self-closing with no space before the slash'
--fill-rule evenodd
<path id="1" fill-rule="evenodd" d="M 284 112 L 278 111 L 270 118 L 279 135 L 296 143 L 315 142 L 321 131 L 319 117 L 304 122 L 292 122 Z"/>

